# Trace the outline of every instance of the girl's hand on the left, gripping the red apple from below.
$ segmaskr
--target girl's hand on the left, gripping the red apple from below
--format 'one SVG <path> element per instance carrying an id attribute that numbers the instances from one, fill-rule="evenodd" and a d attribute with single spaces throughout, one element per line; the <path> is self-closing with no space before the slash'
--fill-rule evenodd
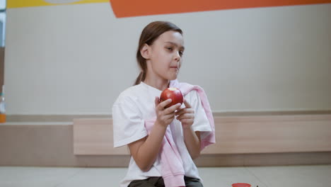
<path id="1" fill-rule="evenodd" d="M 180 108 L 181 104 L 177 103 L 174 106 L 165 108 L 168 104 L 171 103 L 171 99 L 167 99 L 163 102 L 160 102 L 158 97 L 155 98 L 155 108 L 156 108 L 156 123 L 167 128 L 168 125 L 175 119 L 175 111 Z"/>

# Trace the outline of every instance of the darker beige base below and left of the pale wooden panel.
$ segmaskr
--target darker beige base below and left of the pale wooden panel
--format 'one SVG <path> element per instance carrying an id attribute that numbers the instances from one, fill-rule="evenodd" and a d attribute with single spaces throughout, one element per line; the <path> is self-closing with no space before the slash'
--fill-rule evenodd
<path id="1" fill-rule="evenodd" d="M 73 125 L 0 125 L 0 166 L 127 167 L 129 155 L 74 155 Z M 331 164 L 331 152 L 202 154 L 197 166 Z"/>

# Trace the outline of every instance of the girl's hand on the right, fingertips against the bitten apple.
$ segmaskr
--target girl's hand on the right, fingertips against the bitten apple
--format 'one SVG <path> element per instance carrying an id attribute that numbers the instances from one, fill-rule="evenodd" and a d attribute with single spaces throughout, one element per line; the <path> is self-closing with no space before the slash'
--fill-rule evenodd
<path id="1" fill-rule="evenodd" d="M 178 115 L 176 119 L 180 120 L 183 129 L 190 129 L 194 122 L 194 110 L 190 103 L 188 103 L 185 99 L 184 104 L 185 108 L 178 110 L 175 115 Z"/>

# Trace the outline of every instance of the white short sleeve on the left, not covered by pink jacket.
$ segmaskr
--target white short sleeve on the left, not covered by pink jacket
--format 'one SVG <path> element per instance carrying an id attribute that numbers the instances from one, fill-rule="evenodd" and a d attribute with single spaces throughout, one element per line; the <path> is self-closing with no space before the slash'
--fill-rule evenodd
<path id="1" fill-rule="evenodd" d="M 112 106 L 114 147 L 128 145 L 147 135 L 144 119 L 134 101 L 123 99 Z"/>

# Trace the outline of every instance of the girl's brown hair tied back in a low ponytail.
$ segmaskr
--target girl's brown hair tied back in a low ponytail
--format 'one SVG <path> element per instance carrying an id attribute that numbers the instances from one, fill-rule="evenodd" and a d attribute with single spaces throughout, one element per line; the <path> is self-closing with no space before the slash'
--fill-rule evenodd
<path id="1" fill-rule="evenodd" d="M 178 28 L 178 26 L 168 21 L 154 21 L 149 23 L 149 25 L 147 25 L 144 30 L 141 31 L 137 50 L 137 62 L 141 72 L 137 77 L 134 85 L 140 84 L 140 82 L 144 81 L 146 78 L 147 65 L 146 59 L 141 56 L 141 48 L 144 47 L 145 44 L 152 45 L 160 35 L 170 30 L 177 31 L 178 33 L 182 34 L 182 30 Z"/>

